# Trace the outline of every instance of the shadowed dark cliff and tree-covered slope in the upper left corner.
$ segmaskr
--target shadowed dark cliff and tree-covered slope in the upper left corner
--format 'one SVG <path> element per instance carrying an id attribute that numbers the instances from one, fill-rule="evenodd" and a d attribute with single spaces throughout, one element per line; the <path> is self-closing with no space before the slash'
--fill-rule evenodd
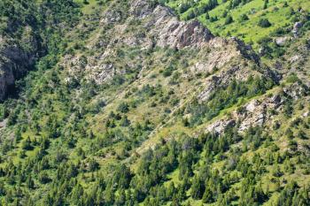
<path id="1" fill-rule="evenodd" d="M 36 60 L 47 53 L 59 55 L 60 36 L 74 27 L 79 15 L 72 0 L 0 2 L 0 101 Z"/>

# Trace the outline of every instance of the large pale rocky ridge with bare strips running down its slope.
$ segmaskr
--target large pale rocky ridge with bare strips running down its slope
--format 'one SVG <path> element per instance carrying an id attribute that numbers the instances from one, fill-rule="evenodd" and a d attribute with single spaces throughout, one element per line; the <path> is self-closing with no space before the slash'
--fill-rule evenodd
<path id="1" fill-rule="evenodd" d="M 163 63 L 162 57 L 159 56 L 161 50 L 165 48 L 171 50 L 186 49 L 195 53 L 195 56 L 187 55 L 188 65 L 183 71 L 178 69 L 184 80 L 202 75 L 198 78 L 199 87 L 193 83 L 186 86 L 181 84 L 181 90 L 176 94 L 179 103 L 174 106 L 171 115 L 167 117 L 169 123 L 174 121 L 174 114 L 186 103 L 190 103 L 194 98 L 198 98 L 200 103 L 207 102 L 208 97 L 213 92 L 218 88 L 227 87 L 231 80 L 245 81 L 252 76 L 264 76 L 274 80 L 275 83 L 280 80 L 279 75 L 260 63 L 260 57 L 244 42 L 236 38 L 214 37 L 207 28 L 196 20 L 190 22 L 178 20 L 167 7 L 153 6 L 143 0 L 135 1 L 135 3 L 130 4 L 129 13 L 131 15 L 129 16 L 124 13 L 120 14 L 120 11 L 115 12 L 114 7 L 114 4 L 110 5 L 104 11 L 103 19 L 100 20 L 103 30 L 99 29 L 97 33 L 105 32 L 105 37 L 97 34 L 95 38 L 91 36 L 91 40 L 89 40 L 89 50 L 96 51 L 94 53 L 97 54 L 97 57 L 89 57 L 79 53 L 66 57 L 62 63 L 69 74 L 66 77 L 68 83 L 75 79 L 94 81 L 101 85 L 109 83 L 115 75 L 125 75 L 127 70 L 138 70 L 137 79 L 127 89 L 115 97 L 109 98 L 110 101 L 105 107 L 106 114 L 107 111 L 115 108 L 115 104 L 119 103 L 120 98 L 128 98 L 127 94 L 131 88 L 135 88 L 135 86 L 143 88 L 146 84 L 157 84 L 156 81 L 152 82 L 147 78 L 150 78 L 152 68 L 167 69 L 167 64 Z M 121 18 L 124 16 L 126 19 Z M 137 23 L 132 23 L 135 21 Z M 109 39 L 109 42 L 103 43 L 105 41 L 103 38 Z M 101 45 L 102 52 L 97 52 L 97 45 Z M 117 57 L 117 50 L 124 48 L 126 50 L 139 50 L 140 54 L 125 60 L 124 57 Z M 159 51 L 156 48 L 159 48 Z M 145 52 L 150 51 L 153 52 L 151 53 L 151 64 L 147 60 L 150 57 L 145 56 Z M 118 61 L 114 61 L 115 58 Z M 85 63 L 82 66 L 81 61 Z M 120 67 L 120 62 L 125 62 L 124 65 L 127 68 Z M 170 87 L 168 83 L 165 82 L 164 84 L 165 87 Z M 188 93 L 182 91 L 182 88 L 185 87 Z M 140 115 L 144 116 L 145 114 Z M 106 115 L 104 117 L 106 118 Z M 104 121 L 103 118 L 99 119 L 99 122 Z M 163 125 L 159 123 L 150 136 L 157 136 L 162 128 Z M 138 151 L 142 152 L 153 144 L 152 139 L 150 139 Z"/>

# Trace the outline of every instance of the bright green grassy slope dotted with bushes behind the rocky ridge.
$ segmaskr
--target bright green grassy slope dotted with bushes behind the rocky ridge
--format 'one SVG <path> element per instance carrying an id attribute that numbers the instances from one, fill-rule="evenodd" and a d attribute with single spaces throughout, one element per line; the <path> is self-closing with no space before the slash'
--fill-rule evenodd
<path id="1" fill-rule="evenodd" d="M 287 30 L 307 16 L 305 0 L 166 0 L 181 19 L 199 19 L 213 34 L 233 35 L 244 42 L 257 43 L 279 29 Z M 300 10 L 301 9 L 301 10 Z M 234 19 L 234 20 L 233 20 Z M 236 20 L 240 19 L 240 20 Z"/>

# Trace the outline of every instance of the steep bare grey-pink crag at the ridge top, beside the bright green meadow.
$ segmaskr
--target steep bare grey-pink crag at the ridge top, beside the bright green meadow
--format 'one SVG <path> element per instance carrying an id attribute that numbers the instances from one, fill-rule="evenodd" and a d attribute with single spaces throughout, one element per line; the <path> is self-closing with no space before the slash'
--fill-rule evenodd
<path id="1" fill-rule="evenodd" d="M 137 19 L 143 19 L 144 27 L 148 29 L 159 47 L 182 49 L 190 46 L 201 46 L 213 38 L 213 34 L 203 27 L 198 20 L 182 22 L 173 11 L 161 5 L 152 5 L 145 0 L 134 1 L 131 13 Z"/>

